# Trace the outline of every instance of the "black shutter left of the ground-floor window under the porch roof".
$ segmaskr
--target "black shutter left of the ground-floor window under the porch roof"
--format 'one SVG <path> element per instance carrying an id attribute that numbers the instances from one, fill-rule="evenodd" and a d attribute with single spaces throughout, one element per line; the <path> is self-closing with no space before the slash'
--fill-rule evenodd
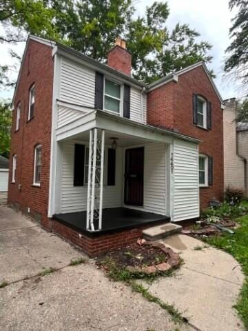
<path id="1" fill-rule="evenodd" d="M 83 186 L 85 146 L 79 143 L 74 148 L 74 186 Z"/>

